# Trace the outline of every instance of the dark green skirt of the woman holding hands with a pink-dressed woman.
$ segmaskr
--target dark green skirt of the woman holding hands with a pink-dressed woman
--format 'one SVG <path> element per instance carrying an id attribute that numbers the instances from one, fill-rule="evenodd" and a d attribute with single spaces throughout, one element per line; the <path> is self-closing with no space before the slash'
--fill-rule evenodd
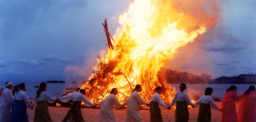
<path id="1" fill-rule="evenodd" d="M 211 122 L 210 104 L 200 103 L 197 122 Z"/>

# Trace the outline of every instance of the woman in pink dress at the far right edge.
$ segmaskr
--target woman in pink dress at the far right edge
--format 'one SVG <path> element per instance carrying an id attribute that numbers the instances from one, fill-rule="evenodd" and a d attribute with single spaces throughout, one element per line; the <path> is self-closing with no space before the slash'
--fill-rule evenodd
<path id="1" fill-rule="evenodd" d="M 256 93 L 253 85 L 242 94 L 242 99 L 238 108 L 238 121 L 256 122 Z"/>

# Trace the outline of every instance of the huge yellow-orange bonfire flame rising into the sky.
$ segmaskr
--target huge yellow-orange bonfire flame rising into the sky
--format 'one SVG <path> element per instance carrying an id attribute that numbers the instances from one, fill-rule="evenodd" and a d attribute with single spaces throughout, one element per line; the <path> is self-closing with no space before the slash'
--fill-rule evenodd
<path id="1" fill-rule="evenodd" d="M 204 10 L 206 3 L 210 9 Z M 135 0 L 119 17 L 120 28 L 113 36 L 113 49 L 99 57 L 96 74 L 82 88 L 86 97 L 100 102 L 112 88 L 123 102 L 134 86 L 141 84 L 141 97 L 149 102 L 154 88 L 162 86 L 162 99 L 170 103 L 175 92 L 158 72 L 171 60 L 177 49 L 216 24 L 216 3 L 194 0 Z"/>

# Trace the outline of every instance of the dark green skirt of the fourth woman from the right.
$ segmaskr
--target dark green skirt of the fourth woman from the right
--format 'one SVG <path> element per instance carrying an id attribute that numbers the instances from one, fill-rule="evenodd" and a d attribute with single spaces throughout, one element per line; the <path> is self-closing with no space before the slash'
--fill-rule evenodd
<path id="1" fill-rule="evenodd" d="M 187 109 L 186 101 L 177 101 L 175 109 L 175 122 L 188 122 L 189 109 Z"/>

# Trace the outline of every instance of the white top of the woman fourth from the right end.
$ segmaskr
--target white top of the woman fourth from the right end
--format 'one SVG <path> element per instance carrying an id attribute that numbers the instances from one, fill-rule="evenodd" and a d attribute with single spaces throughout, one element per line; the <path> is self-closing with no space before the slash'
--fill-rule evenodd
<path id="1" fill-rule="evenodd" d="M 193 103 L 189 99 L 189 95 L 187 95 L 184 91 L 183 92 L 178 91 L 175 94 L 175 96 L 174 96 L 174 98 L 172 100 L 171 106 L 175 105 L 176 101 L 186 101 L 187 105 L 193 105 Z"/>

